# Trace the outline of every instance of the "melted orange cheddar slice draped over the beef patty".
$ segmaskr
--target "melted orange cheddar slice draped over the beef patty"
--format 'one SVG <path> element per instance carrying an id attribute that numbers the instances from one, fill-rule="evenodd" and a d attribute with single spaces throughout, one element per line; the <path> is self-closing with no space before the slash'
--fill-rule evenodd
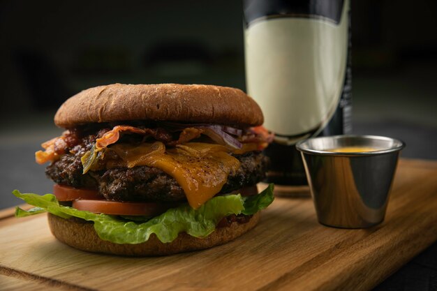
<path id="1" fill-rule="evenodd" d="M 219 144 L 188 142 L 165 149 L 162 142 L 154 142 L 137 146 L 114 144 L 111 149 L 127 167 L 156 167 L 175 178 L 194 209 L 220 192 L 228 175 L 239 168 L 237 158 Z"/>

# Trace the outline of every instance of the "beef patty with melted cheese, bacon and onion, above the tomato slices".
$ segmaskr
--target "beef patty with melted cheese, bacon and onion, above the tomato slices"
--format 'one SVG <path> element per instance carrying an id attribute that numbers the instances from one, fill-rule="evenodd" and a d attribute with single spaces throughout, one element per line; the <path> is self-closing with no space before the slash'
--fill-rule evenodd
<path id="1" fill-rule="evenodd" d="M 46 174 L 57 184 L 96 188 L 107 200 L 188 200 L 198 208 L 265 177 L 260 150 L 270 136 L 259 132 L 205 124 L 76 128 L 43 144 L 36 160 L 51 162 Z"/>

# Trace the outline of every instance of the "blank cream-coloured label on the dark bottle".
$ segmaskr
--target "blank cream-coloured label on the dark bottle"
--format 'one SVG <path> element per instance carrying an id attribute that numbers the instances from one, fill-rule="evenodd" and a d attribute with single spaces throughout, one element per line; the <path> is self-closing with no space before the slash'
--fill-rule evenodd
<path id="1" fill-rule="evenodd" d="M 245 31 L 246 87 L 262 108 L 265 127 L 297 135 L 322 130 L 339 105 L 348 52 L 348 1 L 338 25 L 278 17 Z"/>

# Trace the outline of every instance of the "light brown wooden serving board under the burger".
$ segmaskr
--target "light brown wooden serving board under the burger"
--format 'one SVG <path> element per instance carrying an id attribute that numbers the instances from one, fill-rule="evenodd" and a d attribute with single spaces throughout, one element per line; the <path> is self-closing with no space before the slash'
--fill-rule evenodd
<path id="1" fill-rule="evenodd" d="M 45 215 L 0 212 L 0 281 L 8 290 L 368 290 L 437 240 L 437 162 L 402 160 L 385 222 L 318 224 L 309 198 L 276 198 L 243 237 L 206 251 L 124 258 L 54 239 Z"/>

